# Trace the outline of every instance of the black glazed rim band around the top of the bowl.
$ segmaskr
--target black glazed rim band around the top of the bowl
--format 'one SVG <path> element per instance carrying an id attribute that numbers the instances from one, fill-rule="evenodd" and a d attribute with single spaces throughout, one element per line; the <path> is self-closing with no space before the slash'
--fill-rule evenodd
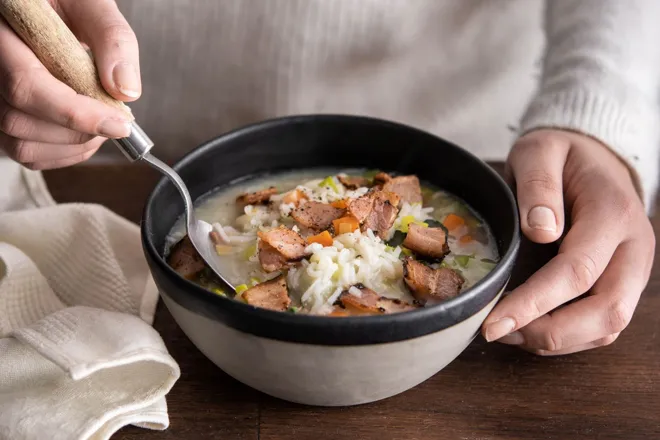
<path id="1" fill-rule="evenodd" d="M 439 141 L 444 142 L 445 144 L 458 148 L 461 154 L 468 156 L 468 158 L 473 161 L 478 161 L 481 164 L 483 164 L 484 173 L 490 174 L 491 177 L 493 177 L 495 181 L 499 183 L 500 186 L 499 189 L 505 192 L 507 199 L 510 202 L 508 209 L 511 210 L 511 214 L 514 219 L 514 225 L 512 226 L 514 227 L 515 230 L 514 233 L 512 234 L 511 241 L 508 243 L 508 250 L 504 254 L 504 256 L 500 258 L 500 261 L 495 266 L 495 268 L 488 275 L 486 275 L 479 282 L 477 282 L 474 286 L 472 286 L 470 289 L 461 293 L 461 295 L 452 298 L 450 300 L 444 301 L 437 305 L 423 307 L 406 313 L 337 318 L 337 317 L 329 317 L 329 316 L 277 312 L 268 309 L 258 308 L 255 306 L 245 304 L 240 301 L 235 301 L 233 299 L 217 295 L 213 292 L 210 292 L 198 286 L 192 281 L 189 281 L 181 277 L 167 264 L 165 259 L 161 256 L 160 252 L 156 249 L 153 241 L 150 239 L 147 233 L 147 228 L 145 227 L 145 225 L 149 224 L 151 221 L 150 207 L 153 204 L 153 199 L 163 190 L 163 187 L 165 185 L 171 184 L 168 178 L 164 176 L 159 180 L 159 182 L 156 184 L 154 189 L 151 191 L 147 199 L 147 202 L 144 206 L 142 222 L 140 224 L 142 245 L 144 252 L 147 254 L 147 257 L 149 257 L 153 261 L 153 264 L 155 264 L 158 269 L 160 269 L 161 271 L 163 271 L 164 274 L 167 275 L 169 281 L 172 281 L 178 288 L 186 292 L 186 294 L 196 295 L 198 299 L 203 300 L 210 306 L 215 306 L 220 308 L 229 307 L 233 309 L 232 310 L 233 312 L 243 313 L 251 318 L 262 320 L 266 324 L 264 325 L 264 327 L 267 327 L 267 324 L 270 323 L 275 325 L 285 324 L 285 325 L 296 326 L 298 330 L 295 333 L 298 333 L 299 331 L 304 331 L 302 329 L 310 330 L 310 332 L 307 334 L 308 336 L 305 336 L 304 334 L 300 335 L 300 333 L 298 333 L 298 335 L 296 336 L 294 333 L 289 333 L 284 337 L 281 337 L 279 335 L 273 337 L 269 335 L 267 331 L 264 332 L 262 331 L 262 329 L 258 329 L 258 328 L 247 330 L 248 332 L 253 333 L 257 336 L 262 336 L 270 339 L 279 339 L 289 342 L 300 342 L 300 343 L 319 343 L 319 340 L 322 339 L 320 343 L 324 345 L 364 345 L 364 344 L 372 344 L 372 343 L 396 342 L 400 340 L 407 340 L 415 337 L 421 337 L 426 334 L 434 333 L 435 331 L 444 330 L 445 328 L 449 328 L 453 325 L 456 325 L 468 319 L 471 316 L 474 316 L 476 312 L 469 316 L 463 317 L 463 319 L 461 320 L 454 321 L 450 325 L 446 325 L 442 328 L 438 328 L 435 331 L 425 331 L 422 333 L 411 331 L 409 332 L 410 334 L 406 337 L 386 337 L 385 340 L 378 340 L 379 338 L 370 338 L 370 337 L 367 338 L 356 337 L 354 338 L 354 340 L 349 341 L 348 343 L 335 344 L 332 340 L 328 340 L 327 338 L 319 339 L 318 337 L 315 336 L 319 334 L 319 330 L 323 332 L 324 329 L 333 328 L 333 327 L 356 327 L 356 325 L 359 325 L 360 328 L 368 327 L 370 325 L 374 325 L 374 326 L 379 325 L 380 327 L 382 327 L 384 324 L 387 325 L 390 323 L 414 325 L 415 321 L 417 320 L 429 318 L 434 315 L 442 315 L 449 310 L 460 308 L 472 302 L 480 295 L 483 295 L 485 292 L 492 291 L 493 289 L 496 289 L 499 292 L 499 290 L 501 290 L 504 287 L 504 284 L 508 282 L 509 276 L 506 276 L 505 281 L 499 282 L 498 285 L 498 278 L 502 278 L 501 275 L 505 272 L 510 273 L 520 247 L 520 242 L 521 242 L 520 226 L 519 226 L 520 220 L 518 215 L 518 206 L 516 199 L 509 186 L 494 169 L 492 169 L 488 164 L 486 164 L 483 160 L 479 159 L 470 151 L 467 151 L 452 142 L 449 142 L 443 138 L 440 138 L 439 136 L 436 136 L 424 130 L 400 122 L 394 122 L 380 118 L 374 118 L 369 116 L 358 116 L 358 115 L 345 115 L 345 114 L 301 114 L 301 115 L 293 115 L 293 116 L 276 117 L 276 118 L 259 121 L 256 123 L 245 125 L 243 127 L 239 127 L 235 130 L 211 138 L 206 142 L 200 144 L 198 147 L 191 150 L 185 156 L 183 156 L 179 161 L 177 161 L 173 165 L 172 168 L 175 171 L 180 172 L 182 168 L 185 168 L 187 165 L 198 160 L 198 158 L 200 156 L 203 156 L 208 150 L 217 148 L 219 145 L 226 144 L 230 142 L 232 139 L 243 136 L 244 134 L 248 134 L 259 130 L 266 130 L 275 126 L 297 123 L 297 122 L 315 122 L 315 121 L 323 122 L 329 120 L 334 120 L 334 121 L 343 120 L 347 122 L 365 122 L 372 124 L 375 123 L 383 126 L 394 126 L 398 128 L 405 128 L 411 132 L 418 132 L 425 136 L 431 136 L 433 138 L 438 139 Z M 250 177 L 253 176 L 245 176 L 236 179 L 235 181 L 244 180 L 245 178 L 250 178 Z M 227 182 L 224 185 L 230 185 L 233 182 L 234 181 Z M 218 185 L 215 188 L 221 188 L 221 187 L 222 185 Z M 211 189 L 210 191 L 213 191 L 214 189 Z M 153 270 L 153 268 L 151 270 Z"/>

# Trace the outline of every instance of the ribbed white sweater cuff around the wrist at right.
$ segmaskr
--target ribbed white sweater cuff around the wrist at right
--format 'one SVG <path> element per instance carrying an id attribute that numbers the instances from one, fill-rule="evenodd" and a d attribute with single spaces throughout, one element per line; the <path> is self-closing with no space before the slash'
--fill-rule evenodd
<path id="1" fill-rule="evenodd" d="M 628 166 L 647 214 L 652 214 L 658 189 L 660 115 L 654 105 L 621 101 L 585 88 L 541 93 L 523 116 L 521 135 L 552 128 L 599 140 Z"/>

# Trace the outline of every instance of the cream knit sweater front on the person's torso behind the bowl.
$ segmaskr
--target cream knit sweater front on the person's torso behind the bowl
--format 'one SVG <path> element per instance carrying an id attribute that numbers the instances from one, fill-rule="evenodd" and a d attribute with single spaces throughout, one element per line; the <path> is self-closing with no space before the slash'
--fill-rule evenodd
<path id="1" fill-rule="evenodd" d="M 131 108 L 165 160 L 299 113 L 392 119 L 502 158 L 543 44 L 538 0 L 118 4 L 140 44 L 143 95 Z"/>

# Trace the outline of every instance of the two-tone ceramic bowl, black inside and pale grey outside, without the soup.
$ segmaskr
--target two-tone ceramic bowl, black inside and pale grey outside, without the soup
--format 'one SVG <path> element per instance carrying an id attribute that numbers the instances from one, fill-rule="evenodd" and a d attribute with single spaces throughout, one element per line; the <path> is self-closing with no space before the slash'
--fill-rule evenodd
<path id="1" fill-rule="evenodd" d="M 188 338 L 244 384 L 320 406 L 404 392 L 453 361 L 500 298 L 520 244 L 515 199 L 495 171 L 462 148 L 405 125 L 356 116 L 265 121 L 213 139 L 175 165 L 193 199 L 246 176 L 314 167 L 416 174 L 458 195 L 490 225 L 501 261 L 460 296 L 408 313 L 334 318 L 259 309 L 208 292 L 167 265 L 166 236 L 183 202 L 162 179 L 141 225 L 151 272 Z"/>

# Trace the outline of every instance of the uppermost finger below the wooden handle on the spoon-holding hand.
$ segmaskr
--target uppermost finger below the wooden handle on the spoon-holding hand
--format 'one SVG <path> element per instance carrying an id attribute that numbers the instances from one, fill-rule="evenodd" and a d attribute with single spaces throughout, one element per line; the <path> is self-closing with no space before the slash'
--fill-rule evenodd
<path id="1" fill-rule="evenodd" d="M 130 121 L 121 110 L 78 95 L 41 64 L 0 19 L 0 94 L 12 107 L 81 133 L 126 137 Z"/>

